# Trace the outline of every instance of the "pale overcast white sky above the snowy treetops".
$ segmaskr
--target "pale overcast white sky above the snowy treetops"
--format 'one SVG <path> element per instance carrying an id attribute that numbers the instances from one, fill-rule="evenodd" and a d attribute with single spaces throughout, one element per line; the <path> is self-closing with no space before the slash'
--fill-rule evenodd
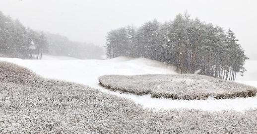
<path id="1" fill-rule="evenodd" d="M 0 11 L 35 30 L 104 46 L 111 29 L 148 20 L 173 20 L 186 10 L 207 23 L 231 28 L 257 59 L 257 0 L 0 0 Z"/>

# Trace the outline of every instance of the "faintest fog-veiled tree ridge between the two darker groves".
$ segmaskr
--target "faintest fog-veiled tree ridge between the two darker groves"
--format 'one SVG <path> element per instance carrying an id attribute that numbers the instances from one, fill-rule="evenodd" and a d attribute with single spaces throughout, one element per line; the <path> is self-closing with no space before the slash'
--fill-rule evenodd
<path id="1" fill-rule="evenodd" d="M 67 37 L 59 34 L 45 32 L 49 55 L 69 56 L 79 59 L 101 59 L 104 55 L 104 48 L 87 43 L 73 42 Z"/>

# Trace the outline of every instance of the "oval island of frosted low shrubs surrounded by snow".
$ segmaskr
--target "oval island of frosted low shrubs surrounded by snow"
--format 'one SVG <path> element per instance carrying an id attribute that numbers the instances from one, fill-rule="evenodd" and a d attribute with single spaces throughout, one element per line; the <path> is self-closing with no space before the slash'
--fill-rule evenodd
<path id="1" fill-rule="evenodd" d="M 151 94 L 152 98 L 231 99 L 257 92 L 253 86 L 196 74 L 104 75 L 99 82 L 111 90 Z"/>

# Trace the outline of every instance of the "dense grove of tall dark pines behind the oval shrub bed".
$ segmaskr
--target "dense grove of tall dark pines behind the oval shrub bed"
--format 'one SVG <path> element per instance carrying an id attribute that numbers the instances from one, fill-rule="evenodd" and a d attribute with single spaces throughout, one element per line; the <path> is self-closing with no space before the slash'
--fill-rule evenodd
<path id="1" fill-rule="evenodd" d="M 200 73 L 235 80 L 248 59 L 235 34 L 219 26 L 206 24 L 188 13 L 173 21 L 154 19 L 139 28 L 112 30 L 107 35 L 107 57 L 148 58 L 173 64 L 181 73 Z"/>

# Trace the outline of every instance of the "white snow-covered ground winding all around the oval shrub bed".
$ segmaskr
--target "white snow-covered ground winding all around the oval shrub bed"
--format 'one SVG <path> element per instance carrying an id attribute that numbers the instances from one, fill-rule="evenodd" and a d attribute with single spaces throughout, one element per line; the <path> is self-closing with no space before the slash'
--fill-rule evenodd
<path id="1" fill-rule="evenodd" d="M 0 60 L 27 67 L 46 78 L 77 82 L 89 85 L 90 87 L 99 89 L 106 93 L 128 98 L 133 100 L 135 103 L 142 105 L 144 108 L 153 108 L 156 110 L 187 108 L 207 111 L 235 110 L 241 112 L 257 108 L 257 97 L 190 101 L 154 99 L 151 98 L 150 95 L 135 96 L 124 93 L 121 94 L 119 92 L 107 90 L 98 85 L 98 77 L 105 74 L 134 75 L 176 73 L 175 67 L 142 58 L 129 59 L 119 57 L 111 60 L 77 60 L 68 58 L 65 60 L 65 57 L 60 59 L 60 57 L 47 56 L 44 60 L 21 60 L 14 58 L 0 58 Z M 257 61 L 252 61 L 251 64 L 248 64 L 247 62 L 246 68 L 249 72 L 254 72 L 256 70 L 255 65 L 257 65 Z M 254 67 L 248 68 L 248 66 Z M 254 74 L 250 74 L 254 76 Z M 246 75 L 248 74 L 246 73 Z M 256 81 L 249 82 L 240 79 L 240 82 L 257 86 Z"/>

